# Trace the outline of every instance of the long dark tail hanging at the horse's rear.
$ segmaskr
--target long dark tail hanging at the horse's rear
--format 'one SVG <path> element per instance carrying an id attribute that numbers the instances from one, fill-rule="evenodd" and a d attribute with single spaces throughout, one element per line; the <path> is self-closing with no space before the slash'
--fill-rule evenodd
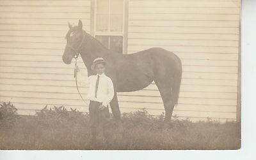
<path id="1" fill-rule="evenodd" d="M 177 59 L 179 59 L 178 56 L 177 56 Z M 182 63 L 181 63 L 180 59 L 179 59 L 178 66 L 179 66 L 179 68 L 177 68 L 177 73 L 175 73 L 175 77 L 173 79 L 173 85 L 172 85 L 173 102 L 175 105 L 178 104 L 180 83 L 181 83 L 181 77 L 182 77 Z"/>

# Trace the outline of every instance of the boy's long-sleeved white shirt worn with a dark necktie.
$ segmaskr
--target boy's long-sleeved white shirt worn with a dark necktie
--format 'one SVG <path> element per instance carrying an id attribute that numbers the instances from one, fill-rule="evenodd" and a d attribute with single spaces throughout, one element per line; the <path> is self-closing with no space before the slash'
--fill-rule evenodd
<path id="1" fill-rule="evenodd" d="M 87 94 L 87 98 L 91 101 L 98 101 L 102 103 L 104 106 L 108 106 L 110 101 L 114 97 L 114 86 L 111 78 L 106 76 L 104 73 L 99 75 L 99 87 L 97 90 L 97 98 L 95 98 L 95 86 L 98 75 L 92 75 L 88 77 L 89 90 Z M 78 72 L 77 81 L 79 84 L 84 84 L 81 82 L 81 74 Z M 85 83 L 87 84 L 87 83 Z"/>

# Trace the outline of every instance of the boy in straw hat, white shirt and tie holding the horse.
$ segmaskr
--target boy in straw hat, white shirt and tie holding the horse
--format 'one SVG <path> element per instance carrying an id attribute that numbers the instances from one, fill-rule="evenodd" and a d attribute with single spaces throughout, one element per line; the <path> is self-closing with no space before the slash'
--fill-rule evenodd
<path id="1" fill-rule="evenodd" d="M 102 124 L 103 135 L 108 142 L 108 125 L 109 125 L 109 109 L 108 105 L 114 97 L 114 87 L 111 78 L 105 75 L 106 61 L 99 57 L 93 61 L 91 66 L 97 75 L 88 77 L 89 91 L 88 99 L 90 100 L 89 114 L 92 131 L 92 143 L 96 141 L 97 127 Z M 79 68 L 76 69 L 79 72 Z M 77 74 L 79 78 L 79 74 Z"/>

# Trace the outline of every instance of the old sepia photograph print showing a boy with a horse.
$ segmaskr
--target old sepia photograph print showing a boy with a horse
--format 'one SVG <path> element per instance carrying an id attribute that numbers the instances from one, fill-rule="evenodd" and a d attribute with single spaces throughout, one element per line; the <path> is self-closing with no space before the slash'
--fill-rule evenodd
<path id="1" fill-rule="evenodd" d="M 0 1 L 0 150 L 240 148 L 240 0 Z"/>

